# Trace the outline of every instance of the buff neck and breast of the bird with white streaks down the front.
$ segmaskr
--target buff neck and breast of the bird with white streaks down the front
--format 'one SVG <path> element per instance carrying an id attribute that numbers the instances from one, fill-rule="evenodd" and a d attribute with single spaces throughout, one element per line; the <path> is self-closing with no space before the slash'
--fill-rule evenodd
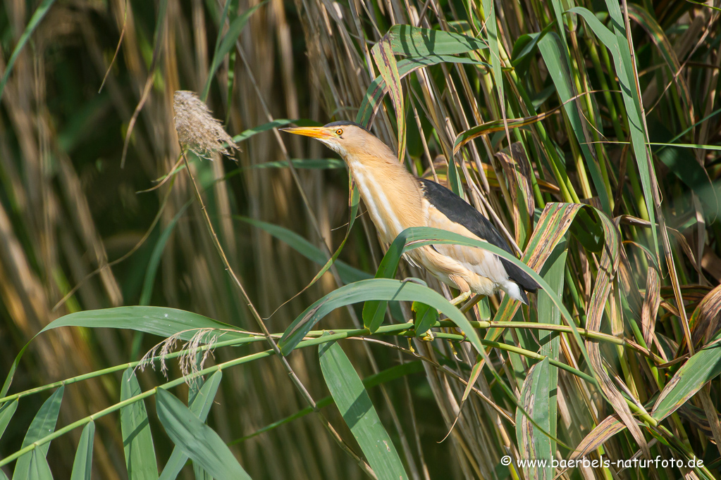
<path id="1" fill-rule="evenodd" d="M 392 243 L 406 228 L 425 225 L 428 212 L 423 212 L 416 178 L 385 144 L 379 143 L 382 148 L 378 146 L 377 150 L 345 155 L 345 162 L 381 241 Z"/>

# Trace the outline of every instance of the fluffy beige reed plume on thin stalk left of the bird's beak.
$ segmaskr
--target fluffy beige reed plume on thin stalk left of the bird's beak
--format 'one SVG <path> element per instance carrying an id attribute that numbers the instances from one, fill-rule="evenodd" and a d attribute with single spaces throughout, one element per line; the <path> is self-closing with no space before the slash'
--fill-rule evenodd
<path id="1" fill-rule="evenodd" d="M 212 160 L 213 153 L 220 152 L 231 157 L 238 145 L 223 130 L 223 125 L 213 118 L 211 110 L 193 91 L 178 90 L 173 94 L 175 131 L 183 148 L 203 158 Z"/>

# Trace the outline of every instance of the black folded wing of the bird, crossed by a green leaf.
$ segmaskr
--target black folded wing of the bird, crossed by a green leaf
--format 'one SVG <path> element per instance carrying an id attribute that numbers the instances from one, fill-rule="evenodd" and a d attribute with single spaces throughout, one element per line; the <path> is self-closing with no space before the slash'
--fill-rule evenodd
<path id="1" fill-rule="evenodd" d="M 445 186 L 436 184 L 435 181 L 425 180 L 425 178 L 419 178 L 418 180 L 425 199 L 430 201 L 430 204 L 437 208 L 439 212 L 451 219 L 451 222 L 463 225 L 477 237 L 498 248 L 503 248 L 503 250 L 513 255 L 508 243 L 501 237 L 500 232 L 477 209 L 471 207 L 460 196 L 446 189 Z M 503 263 L 505 271 L 508 272 L 508 277 L 524 290 L 536 291 L 539 289 L 539 284 L 536 284 L 536 281 L 531 279 L 528 273 L 505 258 L 501 258 L 500 261 Z"/>

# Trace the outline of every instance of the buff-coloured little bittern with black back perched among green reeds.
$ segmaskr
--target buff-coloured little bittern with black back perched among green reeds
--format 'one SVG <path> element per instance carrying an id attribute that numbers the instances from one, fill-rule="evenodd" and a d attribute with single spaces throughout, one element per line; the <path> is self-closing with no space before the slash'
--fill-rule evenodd
<path id="1" fill-rule="evenodd" d="M 445 186 L 407 171 L 397 156 L 361 124 L 331 122 L 323 127 L 287 127 L 288 133 L 323 142 L 345 161 L 382 243 L 390 244 L 409 227 L 434 227 L 474 240 L 486 240 L 513 255 L 495 226 Z M 482 248 L 427 245 L 409 250 L 406 259 L 461 292 L 454 304 L 471 294 L 505 291 L 528 304 L 526 292 L 539 284 L 505 258 Z"/>

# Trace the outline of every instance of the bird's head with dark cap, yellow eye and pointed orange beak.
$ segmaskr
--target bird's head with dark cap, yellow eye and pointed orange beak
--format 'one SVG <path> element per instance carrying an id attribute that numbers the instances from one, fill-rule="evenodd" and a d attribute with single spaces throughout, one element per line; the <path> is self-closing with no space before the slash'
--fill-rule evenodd
<path id="1" fill-rule="evenodd" d="M 368 150 L 371 147 L 369 143 L 380 142 L 375 135 L 355 122 L 332 122 L 322 127 L 290 127 L 280 130 L 317 138 L 342 158 Z"/>

